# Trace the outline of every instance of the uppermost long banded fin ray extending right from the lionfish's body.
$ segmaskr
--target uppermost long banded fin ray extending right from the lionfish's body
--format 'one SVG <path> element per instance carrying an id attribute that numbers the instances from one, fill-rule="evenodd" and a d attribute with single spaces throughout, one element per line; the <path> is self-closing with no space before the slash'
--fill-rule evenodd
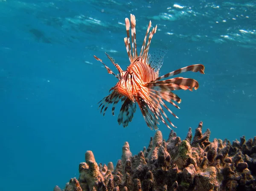
<path id="1" fill-rule="evenodd" d="M 153 80 L 152 82 L 156 82 L 158 80 L 162 80 L 164 78 L 167 78 L 167 77 L 170 77 L 170 76 L 174 76 L 174 75 L 186 72 L 186 71 L 193 71 L 193 72 L 198 72 L 199 71 L 201 74 L 204 74 L 204 65 L 202 65 L 202 64 L 195 64 L 195 65 L 191 65 L 191 66 L 186 66 L 184 68 L 180 68 L 180 69 L 172 71 L 172 72 L 170 72 L 168 74 L 160 76 L 157 79 Z"/>

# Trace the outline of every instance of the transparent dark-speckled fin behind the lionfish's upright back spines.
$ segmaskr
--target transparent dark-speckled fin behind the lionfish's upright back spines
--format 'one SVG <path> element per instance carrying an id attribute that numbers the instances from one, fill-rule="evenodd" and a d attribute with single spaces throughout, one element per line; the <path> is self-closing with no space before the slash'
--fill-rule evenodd
<path id="1" fill-rule="evenodd" d="M 163 57 L 166 55 L 168 50 L 165 48 L 159 48 L 156 51 L 154 51 L 153 54 L 148 55 L 148 65 L 154 69 L 154 72 L 157 72 L 160 70 L 160 68 L 163 65 Z"/>

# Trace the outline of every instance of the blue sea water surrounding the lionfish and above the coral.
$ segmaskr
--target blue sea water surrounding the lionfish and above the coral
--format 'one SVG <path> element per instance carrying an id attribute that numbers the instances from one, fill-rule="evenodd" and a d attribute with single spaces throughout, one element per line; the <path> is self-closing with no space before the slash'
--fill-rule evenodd
<path id="1" fill-rule="evenodd" d="M 137 19 L 141 47 L 149 20 L 158 30 L 150 52 L 167 48 L 160 74 L 202 63 L 196 91 L 176 91 L 182 139 L 203 121 L 210 139 L 256 136 L 256 3 L 253 0 L 0 0 L 0 190 L 49 191 L 79 177 L 92 150 L 96 162 L 148 146 L 151 131 L 139 108 L 127 128 L 98 110 L 117 82 L 102 64 L 129 65 L 125 17 Z M 119 105 L 120 107 L 120 105 Z M 163 137 L 170 130 L 159 125 Z"/>

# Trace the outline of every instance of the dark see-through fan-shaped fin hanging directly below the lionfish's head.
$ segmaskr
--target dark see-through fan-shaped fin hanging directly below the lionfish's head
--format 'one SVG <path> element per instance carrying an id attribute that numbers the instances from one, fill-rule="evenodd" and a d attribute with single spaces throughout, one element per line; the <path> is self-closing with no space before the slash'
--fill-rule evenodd
<path id="1" fill-rule="evenodd" d="M 123 127 L 127 127 L 128 123 L 131 122 L 134 113 L 136 111 L 136 103 L 132 102 L 129 98 L 126 98 L 122 107 L 120 109 L 120 113 L 118 116 L 118 123 L 119 125 L 123 125 Z"/>

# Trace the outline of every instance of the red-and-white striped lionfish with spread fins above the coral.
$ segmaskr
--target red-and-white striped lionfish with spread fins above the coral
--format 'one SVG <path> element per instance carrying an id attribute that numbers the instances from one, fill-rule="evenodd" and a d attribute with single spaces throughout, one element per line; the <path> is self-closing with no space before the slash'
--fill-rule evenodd
<path id="1" fill-rule="evenodd" d="M 112 114 L 114 115 L 116 104 L 121 100 L 122 106 L 118 116 L 119 125 L 122 124 L 123 127 L 128 126 L 128 123 L 131 122 L 136 111 L 136 104 L 138 104 L 145 122 L 151 130 L 157 130 L 157 125 L 159 125 L 160 121 L 162 121 L 168 128 L 170 128 L 169 124 L 175 127 L 163 110 L 163 108 L 166 108 L 166 110 L 174 117 L 178 118 L 166 105 L 166 102 L 169 102 L 176 108 L 179 108 L 175 102 L 180 103 L 181 99 L 172 91 L 180 89 L 189 89 L 192 91 L 193 88 L 196 90 L 198 89 L 199 84 L 194 79 L 183 77 L 175 77 L 168 80 L 163 79 L 186 71 L 199 71 L 201 74 L 204 74 L 204 66 L 201 64 L 186 66 L 159 77 L 159 70 L 163 65 L 163 56 L 166 54 L 166 51 L 158 49 L 154 54 L 148 54 L 151 39 L 157 31 L 157 26 L 149 32 L 151 28 L 151 21 L 149 21 L 139 55 L 137 54 L 135 26 L 135 16 L 131 14 L 130 42 L 130 21 L 128 18 L 125 18 L 127 37 L 124 38 L 124 41 L 128 58 L 131 63 L 125 71 L 123 71 L 107 53 L 105 54 L 116 67 L 119 74 L 114 74 L 101 59 L 94 56 L 96 60 L 100 61 L 105 66 L 109 74 L 113 74 L 119 80 L 118 83 L 116 83 L 116 86 L 110 89 L 109 92 L 112 91 L 111 94 L 99 102 L 99 108 L 101 107 L 100 112 L 102 113 L 103 111 L 104 116 L 105 111 L 108 109 L 108 105 L 113 103 Z M 148 42 L 146 43 L 147 38 Z"/>

